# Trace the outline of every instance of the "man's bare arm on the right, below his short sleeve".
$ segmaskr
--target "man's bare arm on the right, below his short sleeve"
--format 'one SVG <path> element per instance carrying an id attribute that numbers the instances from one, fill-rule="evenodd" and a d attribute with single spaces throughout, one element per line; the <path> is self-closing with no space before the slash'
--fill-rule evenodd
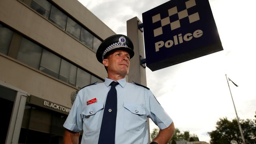
<path id="1" fill-rule="evenodd" d="M 172 124 L 165 128 L 165 129 L 160 129 L 158 136 L 153 140 L 153 142 L 157 142 L 158 144 L 167 144 L 169 140 L 173 137 L 175 128 L 174 124 Z"/>

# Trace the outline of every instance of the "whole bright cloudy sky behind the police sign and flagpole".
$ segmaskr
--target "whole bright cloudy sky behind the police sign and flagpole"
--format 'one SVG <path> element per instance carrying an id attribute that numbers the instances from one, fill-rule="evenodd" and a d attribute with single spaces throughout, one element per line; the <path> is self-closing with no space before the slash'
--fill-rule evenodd
<path id="1" fill-rule="evenodd" d="M 126 35 L 126 21 L 169 0 L 78 0 L 117 34 Z M 147 87 L 172 118 L 176 128 L 210 142 L 219 118 L 236 118 L 225 74 L 240 119 L 256 112 L 255 0 L 209 0 L 223 51 L 152 72 Z M 143 22 L 143 21 L 142 21 Z M 150 131 L 157 127 L 150 121 Z"/>

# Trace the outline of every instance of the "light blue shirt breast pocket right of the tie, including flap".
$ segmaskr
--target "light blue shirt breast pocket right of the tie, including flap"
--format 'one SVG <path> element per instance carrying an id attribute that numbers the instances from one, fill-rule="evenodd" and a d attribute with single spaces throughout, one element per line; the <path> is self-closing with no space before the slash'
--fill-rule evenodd
<path id="1" fill-rule="evenodd" d="M 124 129 L 131 133 L 140 134 L 147 126 L 147 116 L 142 105 L 124 103 Z"/>

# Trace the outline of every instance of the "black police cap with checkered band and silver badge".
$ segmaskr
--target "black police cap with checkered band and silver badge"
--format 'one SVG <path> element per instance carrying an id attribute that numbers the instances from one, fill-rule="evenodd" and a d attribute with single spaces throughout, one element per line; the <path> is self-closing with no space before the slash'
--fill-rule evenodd
<path id="1" fill-rule="evenodd" d="M 130 59 L 134 56 L 134 45 L 132 41 L 125 35 L 112 35 L 105 39 L 96 52 L 96 57 L 100 63 L 110 54 L 116 50 L 123 50 L 129 53 Z"/>

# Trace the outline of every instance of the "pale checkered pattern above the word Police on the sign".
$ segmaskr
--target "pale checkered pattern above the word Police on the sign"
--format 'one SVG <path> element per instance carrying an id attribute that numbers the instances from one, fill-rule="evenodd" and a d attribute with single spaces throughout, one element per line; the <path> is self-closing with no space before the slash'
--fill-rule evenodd
<path id="1" fill-rule="evenodd" d="M 175 30 L 177 28 L 180 28 L 180 19 L 182 19 L 182 18 L 188 17 L 190 24 L 192 22 L 200 20 L 198 12 L 193 13 L 192 15 L 188 15 L 188 13 L 187 13 L 187 9 L 189 9 L 190 7 L 196 6 L 195 0 L 189 0 L 189 1 L 185 2 L 185 4 L 186 4 L 186 9 L 183 10 L 183 11 L 180 11 L 180 12 L 178 12 L 177 7 L 173 7 L 171 9 L 168 9 L 169 17 L 161 19 L 160 13 L 157 14 L 157 15 L 154 15 L 152 17 L 152 22 L 153 23 L 161 21 L 161 27 L 154 29 L 154 37 L 163 34 L 162 27 L 167 25 L 167 24 L 170 24 L 171 30 Z M 174 22 L 170 22 L 170 16 L 176 15 L 176 14 L 178 14 L 179 19 L 174 21 Z"/>

